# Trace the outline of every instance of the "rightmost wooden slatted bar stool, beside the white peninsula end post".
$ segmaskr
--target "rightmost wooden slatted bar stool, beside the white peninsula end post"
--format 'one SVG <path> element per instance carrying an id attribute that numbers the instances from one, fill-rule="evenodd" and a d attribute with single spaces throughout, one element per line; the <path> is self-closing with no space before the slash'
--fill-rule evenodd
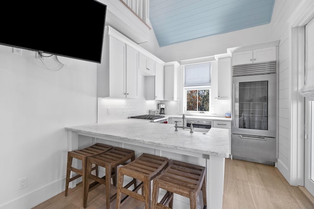
<path id="1" fill-rule="evenodd" d="M 153 182 L 152 209 L 171 209 L 173 193 L 188 197 L 190 209 L 197 209 L 197 196 L 202 190 L 203 204 L 206 209 L 205 167 L 180 161 L 170 161 L 168 167 Z M 158 203 L 159 188 L 167 190 Z M 166 205 L 169 204 L 169 207 Z"/>

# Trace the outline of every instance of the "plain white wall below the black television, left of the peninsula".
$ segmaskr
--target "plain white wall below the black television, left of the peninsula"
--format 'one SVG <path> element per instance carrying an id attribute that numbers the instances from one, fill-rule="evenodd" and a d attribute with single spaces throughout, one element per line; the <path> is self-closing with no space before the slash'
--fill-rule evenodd
<path id="1" fill-rule="evenodd" d="M 0 46 L 0 209 L 29 209 L 63 191 L 64 128 L 97 121 L 95 63 L 69 59 L 50 71 L 35 52 L 22 53 Z"/>

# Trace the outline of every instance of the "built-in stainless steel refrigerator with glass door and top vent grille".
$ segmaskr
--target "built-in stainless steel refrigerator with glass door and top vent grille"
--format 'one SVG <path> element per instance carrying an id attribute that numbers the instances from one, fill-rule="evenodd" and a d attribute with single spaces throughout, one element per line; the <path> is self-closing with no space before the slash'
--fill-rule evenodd
<path id="1" fill-rule="evenodd" d="M 276 162 L 276 63 L 233 68 L 231 154 L 257 163 Z M 240 73 L 239 73 L 240 72 Z"/>

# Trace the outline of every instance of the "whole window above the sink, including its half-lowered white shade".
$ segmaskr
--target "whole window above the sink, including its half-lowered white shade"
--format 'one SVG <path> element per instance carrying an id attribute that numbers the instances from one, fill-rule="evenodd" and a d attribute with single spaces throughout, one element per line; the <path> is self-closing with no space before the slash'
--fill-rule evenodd
<path id="1" fill-rule="evenodd" d="M 210 112 L 210 63 L 184 66 L 185 110 Z"/>

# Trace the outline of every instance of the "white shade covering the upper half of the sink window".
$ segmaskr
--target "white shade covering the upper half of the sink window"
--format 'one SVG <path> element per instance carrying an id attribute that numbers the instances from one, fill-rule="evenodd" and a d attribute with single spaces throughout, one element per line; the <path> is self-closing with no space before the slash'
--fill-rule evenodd
<path id="1" fill-rule="evenodd" d="M 204 86 L 211 83 L 210 63 L 184 66 L 184 86 Z"/>

